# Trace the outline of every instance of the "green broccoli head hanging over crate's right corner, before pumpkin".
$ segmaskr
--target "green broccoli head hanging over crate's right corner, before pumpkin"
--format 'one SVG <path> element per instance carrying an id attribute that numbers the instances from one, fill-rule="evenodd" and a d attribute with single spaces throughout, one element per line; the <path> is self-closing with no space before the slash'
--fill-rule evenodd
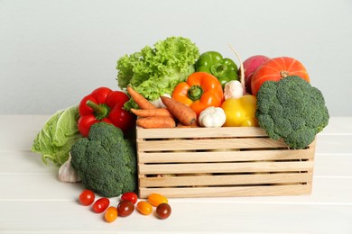
<path id="1" fill-rule="evenodd" d="M 323 94 L 299 76 L 264 82 L 256 104 L 259 126 L 290 148 L 306 148 L 329 123 Z"/>

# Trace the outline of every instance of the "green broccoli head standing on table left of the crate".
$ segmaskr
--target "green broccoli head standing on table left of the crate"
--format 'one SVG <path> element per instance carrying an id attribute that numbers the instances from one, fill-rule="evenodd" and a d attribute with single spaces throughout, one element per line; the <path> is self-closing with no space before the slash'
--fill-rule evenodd
<path id="1" fill-rule="evenodd" d="M 76 141 L 70 154 L 71 165 L 86 188 L 106 197 L 136 189 L 134 145 L 114 125 L 93 124 L 88 138 Z"/>

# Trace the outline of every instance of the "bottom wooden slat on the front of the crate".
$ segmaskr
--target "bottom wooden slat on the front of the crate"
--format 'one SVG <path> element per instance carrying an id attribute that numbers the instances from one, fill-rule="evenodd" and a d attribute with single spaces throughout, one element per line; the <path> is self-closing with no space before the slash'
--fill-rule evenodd
<path id="1" fill-rule="evenodd" d="M 161 193 L 167 197 L 226 197 L 226 196 L 267 196 L 310 194 L 311 184 L 233 186 L 233 187 L 185 187 L 185 188 L 140 188 L 139 196 Z"/>

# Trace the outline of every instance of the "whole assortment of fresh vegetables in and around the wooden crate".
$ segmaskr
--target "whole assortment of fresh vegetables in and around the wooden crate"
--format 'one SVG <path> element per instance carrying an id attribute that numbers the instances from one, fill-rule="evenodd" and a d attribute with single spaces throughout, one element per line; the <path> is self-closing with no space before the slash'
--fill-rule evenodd
<path id="1" fill-rule="evenodd" d="M 82 205 L 107 222 L 135 210 L 166 219 L 166 197 L 138 202 L 135 125 L 142 128 L 261 127 L 289 148 L 306 148 L 329 123 L 323 94 L 295 58 L 256 55 L 240 68 L 217 51 L 199 55 L 190 39 L 170 37 L 117 60 L 122 91 L 98 87 L 79 105 L 54 113 L 32 151 L 60 166 L 63 182 L 79 182 Z M 236 130 L 236 129 L 234 129 Z M 103 196 L 95 201 L 95 193 Z M 121 195 L 122 194 L 122 195 Z M 117 207 L 110 198 L 121 195 Z"/>

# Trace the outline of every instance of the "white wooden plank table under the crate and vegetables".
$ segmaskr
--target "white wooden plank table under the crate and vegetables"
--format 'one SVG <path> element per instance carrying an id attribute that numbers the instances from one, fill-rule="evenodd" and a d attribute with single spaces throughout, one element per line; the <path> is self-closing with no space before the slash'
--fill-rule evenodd
<path id="1" fill-rule="evenodd" d="M 113 223 L 30 151 L 48 117 L 0 115 L 0 233 L 352 233 L 352 117 L 319 134 L 310 195 L 170 199 L 167 220 L 134 211 Z"/>

